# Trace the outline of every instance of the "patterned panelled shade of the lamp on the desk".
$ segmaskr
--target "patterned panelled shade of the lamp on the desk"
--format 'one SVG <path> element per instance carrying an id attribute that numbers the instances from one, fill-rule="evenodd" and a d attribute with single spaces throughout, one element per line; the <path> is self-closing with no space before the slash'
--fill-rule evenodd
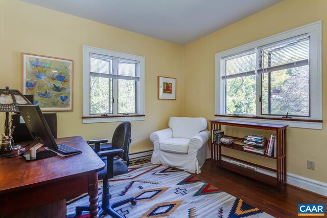
<path id="1" fill-rule="evenodd" d="M 17 105 L 31 105 L 32 103 L 18 90 L 0 89 L 0 112 L 19 112 Z"/>

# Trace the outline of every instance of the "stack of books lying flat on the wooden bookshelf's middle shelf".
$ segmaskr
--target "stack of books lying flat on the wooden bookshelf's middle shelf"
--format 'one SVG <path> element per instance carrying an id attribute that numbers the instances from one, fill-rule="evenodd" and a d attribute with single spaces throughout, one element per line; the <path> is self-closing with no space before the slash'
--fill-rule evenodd
<path id="1" fill-rule="evenodd" d="M 244 150 L 261 155 L 264 155 L 267 149 L 267 139 L 262 135 L 248 135 L 246 139 L 243 140 L 243 144 Z"/>

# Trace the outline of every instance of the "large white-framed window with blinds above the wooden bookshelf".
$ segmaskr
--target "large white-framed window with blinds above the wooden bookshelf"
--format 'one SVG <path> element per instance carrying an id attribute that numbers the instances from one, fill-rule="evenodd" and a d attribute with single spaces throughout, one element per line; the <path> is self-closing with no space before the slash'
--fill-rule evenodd
<path id="1" fill-rule="evenodd" d="M 320 22 L 216 54 L 217 116 L 321 128 L 321 96 Z"/>

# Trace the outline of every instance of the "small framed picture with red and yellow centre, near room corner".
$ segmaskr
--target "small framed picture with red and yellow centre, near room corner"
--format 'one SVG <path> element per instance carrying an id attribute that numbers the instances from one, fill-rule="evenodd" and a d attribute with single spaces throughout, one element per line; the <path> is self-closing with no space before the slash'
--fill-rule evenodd
<path id="1" fill-rule="evenodd" d="M 176 100 L 176 78 L 158 76 L 158 99 Z"/>

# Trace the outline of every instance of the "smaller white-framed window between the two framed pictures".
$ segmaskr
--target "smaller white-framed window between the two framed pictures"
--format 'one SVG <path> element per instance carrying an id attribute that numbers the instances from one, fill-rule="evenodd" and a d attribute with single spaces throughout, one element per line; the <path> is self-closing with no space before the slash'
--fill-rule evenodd
<path id="1" fill-rule="evenodd" d="M 83 51 L 83 122 L 144 120 L 144 57 Z"/>

